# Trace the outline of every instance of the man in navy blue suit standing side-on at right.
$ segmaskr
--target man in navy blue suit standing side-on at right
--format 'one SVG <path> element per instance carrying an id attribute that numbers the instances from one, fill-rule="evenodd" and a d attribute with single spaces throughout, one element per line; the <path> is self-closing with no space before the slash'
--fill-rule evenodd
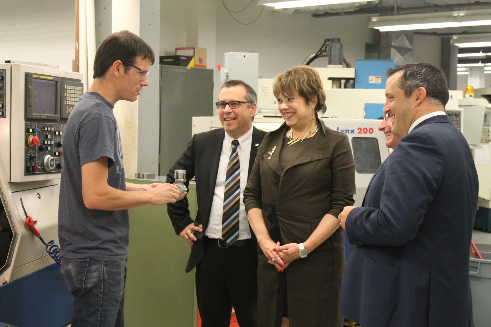
<path id="1" fill-rule="evenodd" d="M 341 303 L 363 327 L 471 327 L 469 248 L 478 179 L 462 133 L 445 114 L 443 72 L 389 69 L 384 112 L 402 137 L 361 207 L 339 215 L 351 250 Z"/>

